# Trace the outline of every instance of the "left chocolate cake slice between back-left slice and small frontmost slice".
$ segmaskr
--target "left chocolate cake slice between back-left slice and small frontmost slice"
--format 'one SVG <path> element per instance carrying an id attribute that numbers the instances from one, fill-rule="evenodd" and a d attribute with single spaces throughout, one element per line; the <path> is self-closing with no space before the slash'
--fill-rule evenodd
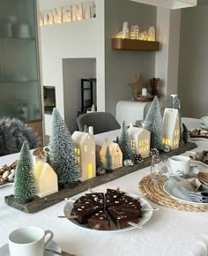
<path id="1" fill-rule="evenodd" d="M 71 215 L 78 216 L 76 220 L 80 224 L 85 224 L 87 220 L 97 213 L 99 210 L 102 210 L 103 207 L 99 204 L 97 205 L 85 205 L 85 204 L 79 204 L 76 207 L 73 207 L 71 210 Z"/>

